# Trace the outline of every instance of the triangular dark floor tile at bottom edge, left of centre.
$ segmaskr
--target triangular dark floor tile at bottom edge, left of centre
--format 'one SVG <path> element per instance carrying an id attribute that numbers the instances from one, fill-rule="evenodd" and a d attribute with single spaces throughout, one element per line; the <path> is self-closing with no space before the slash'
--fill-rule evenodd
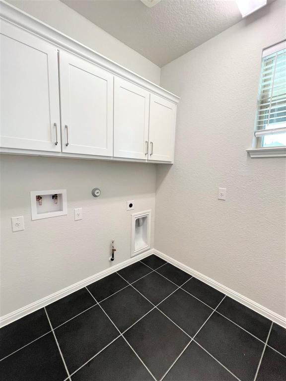
<path id="1" fill-rule="evenodd" d="M 152 381 L 142 362 L 119 337 L 71 377 L 72 381 Z"/>

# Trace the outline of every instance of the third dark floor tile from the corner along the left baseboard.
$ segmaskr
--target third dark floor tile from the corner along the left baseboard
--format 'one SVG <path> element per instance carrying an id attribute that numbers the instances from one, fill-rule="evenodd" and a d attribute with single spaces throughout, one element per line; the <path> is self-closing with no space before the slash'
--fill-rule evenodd
<path id="1" fill-rule="evenodd" d="M 91 292 L 97 302 L 101 302 L 103 299 L 121 290 L 125 286 L 128 286 L 128 283 L 115 272 L 90 284 L 87 286 L 87 289 Z"/>

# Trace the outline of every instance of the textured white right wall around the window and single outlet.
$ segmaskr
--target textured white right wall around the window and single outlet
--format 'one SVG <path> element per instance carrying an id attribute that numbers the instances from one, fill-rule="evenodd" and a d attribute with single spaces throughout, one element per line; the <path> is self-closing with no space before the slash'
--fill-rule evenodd
<path id="1" fill-rule="evenodd" d="M 155 248 L 286 316 L 286 159 L 251 159 L 261 53 L 277 0 L 162 68 L 181 97 L 175 164 L 158 166 Z M 218 187 L 227 200 L 217 199 Z"/>

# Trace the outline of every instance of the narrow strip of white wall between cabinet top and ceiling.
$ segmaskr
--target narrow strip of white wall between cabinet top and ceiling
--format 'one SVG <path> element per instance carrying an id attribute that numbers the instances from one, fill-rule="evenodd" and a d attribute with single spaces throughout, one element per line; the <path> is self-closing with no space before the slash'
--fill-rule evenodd
<path id="1" fill-rule="evenodd" d="M 60 0 L 7 0 L 53 28 L 159 84 L 160 67 L 99 28 Z"/>

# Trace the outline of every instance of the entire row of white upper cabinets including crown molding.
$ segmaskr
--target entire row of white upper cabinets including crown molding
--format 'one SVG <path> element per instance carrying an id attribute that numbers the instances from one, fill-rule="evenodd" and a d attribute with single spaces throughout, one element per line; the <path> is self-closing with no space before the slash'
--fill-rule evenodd
<path id="1" fill-rule="evenodd" d="M 176 95 L 0 3 L 0 153 L 173 162 Z"/>

